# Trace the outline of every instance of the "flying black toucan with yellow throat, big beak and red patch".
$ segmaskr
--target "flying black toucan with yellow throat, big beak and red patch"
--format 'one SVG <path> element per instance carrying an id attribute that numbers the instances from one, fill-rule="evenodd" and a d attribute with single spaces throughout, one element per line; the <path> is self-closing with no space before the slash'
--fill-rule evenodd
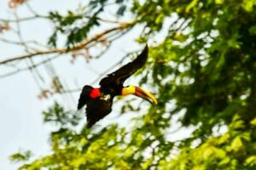
<path id="1" fill-rule="evenodd" d="M 86 105 L 86 127 L 92 127 L 112 111 L 113 98 L 115 96 L 133 94 L 148 100 L 153 105 L 157 105 L 154 95 L 143 88 L 134 85 L 124 87 L 125 80 L 131 77 L 138 69 L 142 68 L 147 59 L 148 45 L 145 46 L 143 52 L 136 59 L 103 77 L 99 82 L 100 88 L 93 88 L 90 85 L 84 86 L 79 97 L 78 110 L 81 110 Z"/>

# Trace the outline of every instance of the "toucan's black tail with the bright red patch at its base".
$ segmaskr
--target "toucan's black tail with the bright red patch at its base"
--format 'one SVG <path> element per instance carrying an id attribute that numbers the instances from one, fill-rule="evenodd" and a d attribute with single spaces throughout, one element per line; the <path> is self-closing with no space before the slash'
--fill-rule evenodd
<path id="1" fill-rule="evenodd" d="M 101 96 L 101 91 L 99 88 L 92 88 L 89 85 L 85 85 L 82 89 L 82 93 L 80 94 L 78 110 L 85 105 L 86 101 L 89 99 L 96 99 L 99 96 Z"/>

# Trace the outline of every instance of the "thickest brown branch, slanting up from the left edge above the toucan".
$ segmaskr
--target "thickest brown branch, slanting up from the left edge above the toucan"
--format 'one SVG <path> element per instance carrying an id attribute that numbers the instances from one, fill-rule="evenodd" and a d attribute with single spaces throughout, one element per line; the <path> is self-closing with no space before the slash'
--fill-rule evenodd
<path id="1" fill-rule="evenodd" d="M 56 54 L 56 53 L 57 54 L 67 54 L 67 53 L 72 52 L 72 51 L 77 51 L 77 50 L 82 49 L 85 46 L 89 45 L 91 42 L 97 42 L 97 40 L 99 38 L 102 38 L 102 37 L 108 35 L 108 33 L 110 33 L 110 32 L 122 31 L 126 28 L 129 28 L 129 27 L 133 26 L 133 24 L 134 23 L 123 23 L 123 24 L 120 24 L 119 26 L 110 28 L 106 31 L 102 31 L 99 34 L 96 34 L 96 36 L 91 37 L 90 39 L 85 40 L 84 42 L 81 42 L 78 45 L 75 45 L 73 48 L 53 48 L 53 49 L 49 49 L 49 50 L 45 50 L 45 51 L 38 51 L 38 52 L 35 52 L 35 53 L 32 53 L 32 54 L 22 54 L 20 56 L 16 56 L 16 57 L 13 57 L 13 58 L 7 58 L 7 59 L 2 60 L 2 61 L 0 61 L 0 65 L 4 65 L 6 63 L 13 62 L 13 61 L 16 61 L 16 60 L 21 60 L 21 59 L 30 59 L 34 56 L 38 56 L 38 55 L 42 55 L 42 54 Z"/>

